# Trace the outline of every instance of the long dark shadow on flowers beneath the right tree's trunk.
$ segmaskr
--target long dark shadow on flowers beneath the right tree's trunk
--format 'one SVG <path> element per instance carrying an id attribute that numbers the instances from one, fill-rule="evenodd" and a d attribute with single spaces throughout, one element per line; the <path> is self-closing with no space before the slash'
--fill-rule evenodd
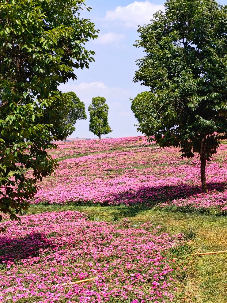
<path id="1" fill-rule="evenodd" d="M 225 183 L 208 183 L 209 191 L 223 191 L 227 188 Z M 144 207 L 152 207 L 159 203 L 173 201 L 180 198 L 189 198 L 192 195 L 198 195 L 202 192 L 200 185 L 157 185 L 157 186 L 143 186 L 135 190 L 119 192 L 113 195 L 110 205 L 121 205 L 124 215 L 134 216 L 138 212 L 143 211 Z M 130 210 L 126 210 L 126 206 Z M 137 206 L 136 206 L 137 205 Z M 138 207 L 143 205 L 143 207 Z"/>

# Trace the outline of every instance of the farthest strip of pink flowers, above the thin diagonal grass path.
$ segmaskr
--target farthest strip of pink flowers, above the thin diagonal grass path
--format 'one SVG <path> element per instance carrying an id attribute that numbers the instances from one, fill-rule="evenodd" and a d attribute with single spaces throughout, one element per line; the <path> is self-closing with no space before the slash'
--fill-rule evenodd
<path id="1" fill-rule="evenodd" d="M 91 139 L 72 142 L 56 142 L 58 149 L 53 149 L 49 154 L 53 158 L 62 158 L 72 155 L 80 155 L 97 151 L 109 151 L 121 148 L 140 147 L 150 145 L 144 136 Z"/>

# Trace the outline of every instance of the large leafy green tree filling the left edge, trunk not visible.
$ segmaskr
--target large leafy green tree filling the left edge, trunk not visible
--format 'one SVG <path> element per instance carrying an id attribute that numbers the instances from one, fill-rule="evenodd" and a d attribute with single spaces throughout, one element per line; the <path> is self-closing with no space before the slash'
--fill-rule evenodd
<path id="1" fill-rule="evenodd" d="M 58 85 L 94 60 L 84 45 L 98 31 L 83 8 L 84 0 L 0 2 L 0 211 L 12 219 L 58 166 L 48 155 L 64 138 Z"/>

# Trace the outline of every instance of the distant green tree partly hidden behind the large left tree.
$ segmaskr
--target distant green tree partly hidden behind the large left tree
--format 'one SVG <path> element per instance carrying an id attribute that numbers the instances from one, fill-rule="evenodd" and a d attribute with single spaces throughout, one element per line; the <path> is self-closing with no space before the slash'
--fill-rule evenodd
<path id="1" fill-rule="evenodd" d="M 66 142 L 67 136 L 71 135 L 76 129 L 74 124 L 77 120 L 86 120 L 87 115 L 84 102 L 82 102 L 74 92 L 63 93 L 62 97 L 67 112 L 63 120 Z"/>

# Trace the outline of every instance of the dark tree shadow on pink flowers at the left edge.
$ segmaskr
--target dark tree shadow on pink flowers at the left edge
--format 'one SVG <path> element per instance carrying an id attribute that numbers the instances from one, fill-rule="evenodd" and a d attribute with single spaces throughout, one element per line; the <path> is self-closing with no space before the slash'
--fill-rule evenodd
<path id="1" fill-rule="evenodd" d="M 51 242 L 40 233 L 33 233 L 24 238 L 0 237 L 0 263 L 16 261 L 39 255 L 41 248 L 52 246 Z"/>

